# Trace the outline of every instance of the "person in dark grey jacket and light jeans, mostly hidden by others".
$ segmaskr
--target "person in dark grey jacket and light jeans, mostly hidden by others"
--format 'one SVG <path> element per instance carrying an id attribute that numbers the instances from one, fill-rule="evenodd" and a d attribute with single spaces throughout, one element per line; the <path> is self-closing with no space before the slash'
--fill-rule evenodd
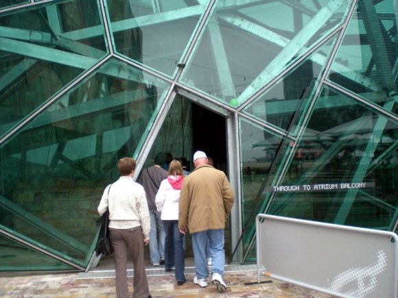
<path id="1" fill-rule="evenodd" d="M 166 233 L 161 220 L 161 213 L 157 210 L 155 204 L 156 193 L 161 186 L 161 182 L 167 179 L 167 171 L 163 166 L 167 166 L 167 153 L 157 153 L 154 159 L 154 165 L 143 169 L 137 182 L 145 190 L 148 208 L 150 211 L 151 229 L 150 229 L 150 264 L 159 266 L 165 262 L 165 238 Z"/>

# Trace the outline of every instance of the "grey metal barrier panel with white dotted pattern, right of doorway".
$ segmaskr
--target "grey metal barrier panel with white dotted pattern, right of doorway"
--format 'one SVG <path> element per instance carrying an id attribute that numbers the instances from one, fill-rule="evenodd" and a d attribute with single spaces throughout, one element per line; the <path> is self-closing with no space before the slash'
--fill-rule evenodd
<path id="1" fill-rule="evenodd" d="M 257 280 L 264 274 L 338 297 L 398 297 L 397 235 L 257 215 Z"/>

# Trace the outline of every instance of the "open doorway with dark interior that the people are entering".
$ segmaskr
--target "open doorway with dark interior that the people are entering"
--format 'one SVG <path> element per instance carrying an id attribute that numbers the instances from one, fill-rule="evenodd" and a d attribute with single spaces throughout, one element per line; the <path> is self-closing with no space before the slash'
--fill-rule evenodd
<path id="1" fill-rule="evenodd" d="M 216 169 L 224 171 L 228 175 L 226 138 L 225 116 L 203 108 L 186 97 L 178 97 L 154 140 L 149 154 L 150 158 L 148 158 L 150 162 L 145 161 L 143 169 L 152 166 L 153 157 L 157 152 L 170 152 L 174 158 L 184 158 L 186 162 L 192 164 L 194 152 L 202 150 L 213 159 Z M 193 170 L 193 168 L 189 169 L 189 171 Z M 229 221 L 226 222 L 224 238 L 226 260 L 229 260 L 232 249 Z M 190 234 L 187 235 L 186 240 L 185 264 L 193 266 L 194 254 Z M 145 264 L 148 267 L 150 267 L 149 254 L 147 246 L 145 247 Z M 131 260 L 129 260 L 129 264 L 131 264 Z M 102 258 L 99 267 L 101 270 L 113 270 L 113 256 Z"/>

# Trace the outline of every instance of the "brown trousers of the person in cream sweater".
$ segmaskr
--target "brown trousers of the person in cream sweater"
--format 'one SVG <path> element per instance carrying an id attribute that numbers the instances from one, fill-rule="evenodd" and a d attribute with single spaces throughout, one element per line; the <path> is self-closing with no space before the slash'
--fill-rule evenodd
<path id="1" fill-rule="evenodd" d="M 150 295 L 148 280 L 144 267 L 144 245 L 141 226 L 132 229 L 109 229 L 109 237 L 115 255 L 116 295 L 127 298 L 127 257 L 131 253 L 134 266 L 132 297 L 146 298 Z"/>

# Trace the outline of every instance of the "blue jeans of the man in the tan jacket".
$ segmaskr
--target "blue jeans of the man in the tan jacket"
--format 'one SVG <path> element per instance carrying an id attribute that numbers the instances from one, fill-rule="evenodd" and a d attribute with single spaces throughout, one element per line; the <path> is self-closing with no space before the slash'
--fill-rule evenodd
<path id="1" fill-rule="evenodd" d="M 207 241 L 209 241 L 210 248 L 211 273 L 218 273 L 224 276 L 224 229 L 208 229 L 207 231 L 192 234 L 196 276 L 198 278 L 207 278 L 207 275 L 209 275 L 206 258 Z"/>

